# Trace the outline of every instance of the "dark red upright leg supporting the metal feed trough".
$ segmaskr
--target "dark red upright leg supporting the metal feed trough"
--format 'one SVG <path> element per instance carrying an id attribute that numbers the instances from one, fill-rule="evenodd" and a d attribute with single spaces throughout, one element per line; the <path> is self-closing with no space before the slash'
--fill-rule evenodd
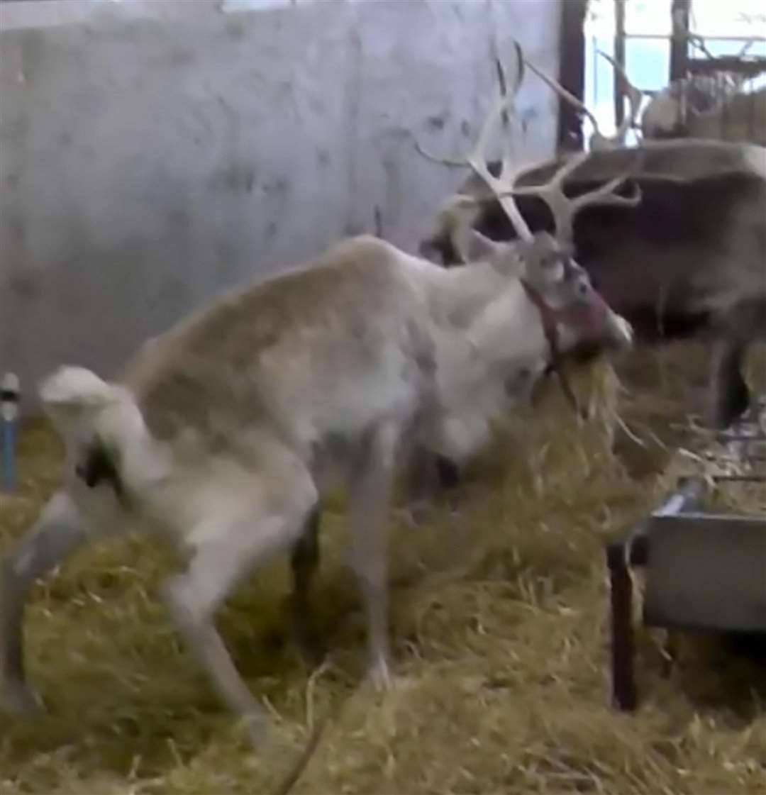
<path id="1" fill-rule="evenodd" d="M 632 581 L 625 547 L 617 542 L 606 549 L 609 567 L 612 630 L 612 701 L 620 710 L 636 709 L 633 661 Z"/>

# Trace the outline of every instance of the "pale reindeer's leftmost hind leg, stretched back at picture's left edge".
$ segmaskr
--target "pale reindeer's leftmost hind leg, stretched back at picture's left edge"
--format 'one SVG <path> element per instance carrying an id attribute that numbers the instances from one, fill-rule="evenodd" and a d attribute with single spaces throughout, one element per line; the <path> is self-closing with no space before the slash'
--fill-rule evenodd
<path id="1" fill-rule="evenodd" d="M 57 491 L 40 518 L 0 564 L 0 708 L 17 714 L 44 710 L 24 673 L 24 603 L 34 580 L 80 546 L 87 529 L 72 498 Z"/>

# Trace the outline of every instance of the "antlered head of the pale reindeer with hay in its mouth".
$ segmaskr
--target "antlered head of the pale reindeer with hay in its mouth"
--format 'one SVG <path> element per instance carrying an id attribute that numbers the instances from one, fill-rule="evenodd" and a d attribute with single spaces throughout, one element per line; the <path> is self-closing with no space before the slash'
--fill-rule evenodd
<path id="1" fill-rule="evenodd" d="M 500 203 L 518 239 L 506 243 L 492 242 L 472 228 L 480 205 L 485 200 L 481 193 L 485 194 L 486 188 L 481 192 L 477 191 L 477 196 L 472 192 L 461 193 L 448 200 L 440 211 L 441 227 L 448 231 L 453 248 L 464 262 L 481 258 L 504 270 L 515 269 L 527 294 L 538 305 L 543 324 L 546 327 L 564 329 L 563 339 L 560 341 L 565 347 L 570 347 L 568 342 L 577 344 L 582 341 L 599 341 L 620 347 L 629 345 L 632 334 L 627 321 L 617 317 L 609 309 L 593 289 L 585 270 L 574 259 L 573 223 L 577 212 L 589 205 L 635 207 L 640 202 L 640 191 L 636 187 L 632 196 L 618 195 L 616 191 L 625 181 L 624 176 L 618 176 L 581 196 L 566 196 L 566 180 L 590 157 L 588 152 L 577 153 L 564 161 L 543 184 L 519 186 L 524 175 L 531 174 L 542 164 L 525 165 L 517 162 L 511 135 L 508 134 L 510 118 L 517 120 L 515 95 L 523 80 L 524 64 L 529 64 L 519 45 L 516 45 L 516 62 L 516 77 L 510 90 L 504 69 L 497 62 L 500 96 L 484 120 L 476 146 L 465 158 L 465 165 L 471 167 Z M 566 90 L 544 76 L 539 68 L 533 67 L 533 71 L 569 98 Z M 631 96 L 632 114 L 628 123 L 635 118 L 638 111 L 640 92 Z M 503 150 L 500 168 L 493 169 L 495 173 L 492 173 L 485 152 L 489 135 L 499 119 L 502 119 L 504 130 L 501 138 Z M 597 130 L 597 142 L 602 148 L 606 145 L 618 145 L 617 142 L 623 136 L 623 129 L 618 130 L 614 138 L 606 138 Z M 455 161 L 449 162 L 455 164 Z M 519 196 L 535 196 L 546 204 L 554 219 L 554 234 L 531 231 L 516 205 L 515 199 Z M 571 333 L 568 334 L 567 329 Z"/>

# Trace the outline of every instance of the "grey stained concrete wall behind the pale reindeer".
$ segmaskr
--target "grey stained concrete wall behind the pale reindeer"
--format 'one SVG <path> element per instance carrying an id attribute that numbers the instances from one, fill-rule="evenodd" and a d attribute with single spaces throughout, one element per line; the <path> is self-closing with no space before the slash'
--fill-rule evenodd
<path id="1" fill-rule="evenodd" d="M 62 362 L 110 374 L 221 288 L 374 231 L 375 207 L 412 250 L 465 177 L 414 137 L 465 152 L 493 38 L 558 66 L 557 0 L 49 5 L 80 4 L 3 4 L 0 32 L 0 370 L 28 394 Z M 530 156 L 555 105 L 528 77 Z"/>

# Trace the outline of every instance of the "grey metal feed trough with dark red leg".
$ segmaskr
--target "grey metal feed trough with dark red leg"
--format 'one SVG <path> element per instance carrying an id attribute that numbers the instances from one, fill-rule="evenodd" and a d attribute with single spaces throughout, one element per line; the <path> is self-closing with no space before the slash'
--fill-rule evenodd
<path id="1" fill-rule="evenodd" d="M 766 433 L 757 424 L 721 436 L 751 467 L 766 460 Z M 766 634 L 766 515 L 700 509 L 710 487 L 746 480 L 766 481 L 766 474 L 682 479 L 663 506 L 607 545 L 612 701 L 617 708 L 633 710 L 637 703 L 632 567 L 645 572 L 644 626 Z"/>

